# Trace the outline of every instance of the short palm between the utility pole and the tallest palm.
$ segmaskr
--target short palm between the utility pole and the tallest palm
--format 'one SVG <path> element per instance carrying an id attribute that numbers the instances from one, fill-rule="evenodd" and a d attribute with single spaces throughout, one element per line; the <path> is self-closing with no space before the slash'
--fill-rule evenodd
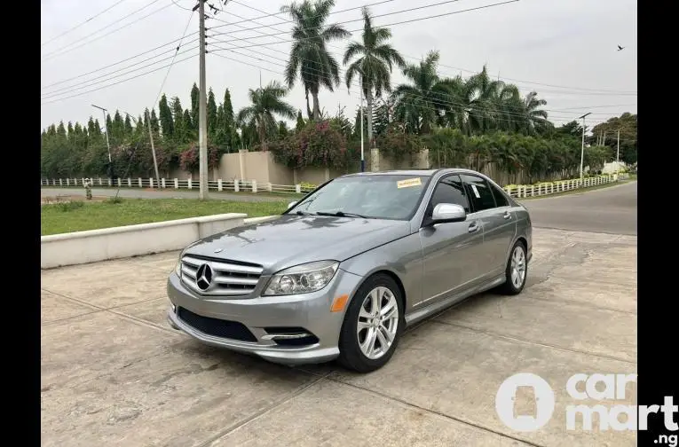
<path id="1" fill-rule="evenodd" d="M 264 88 L 249 90 L 251 106 L 243 107 L 236 118 L 241 129 L 255 127 L 259 136 L 262 151 L 266 151 L 266 136 L 278 132 L 278 123 L 274 114 L 294 120 L 296 109 L 282 100 L 288 94 L 288 89 L 278 81 L 269 82 Z"/>

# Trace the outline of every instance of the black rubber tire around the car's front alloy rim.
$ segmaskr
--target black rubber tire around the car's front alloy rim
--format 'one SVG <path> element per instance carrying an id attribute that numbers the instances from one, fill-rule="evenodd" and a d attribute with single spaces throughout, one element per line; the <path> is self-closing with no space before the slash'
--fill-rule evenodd
<path id="1" fill-rule="evenodd" d="M 391 294 L 393 294 L 394 298 L 396 298 L 399 318 L 397 320 L 396 333 L 394 340 L 391 341 L 391 346 L 389 346 L 389 349 L 386 350 L 381 357 L 372 359 L 367 357 L 360 349 L 357 328 L 359 325 L 359 312 L 361 307 L 363 306 L 367 295 L 376 287 L 386 287 Z M 367 278 L 349 303 L 349 308 L 344 315 L 344 322 L 339 338 L 340 355 L 337 358 L 338 363 L 345 368 L 356 372 L 372 372 L 382 368 L 389 362 L 391 356 L 393 356 L 405 325 L 406 320 L 403 318 L 403 296 L 396 281 L 388 275 L 381 273 Z"/>

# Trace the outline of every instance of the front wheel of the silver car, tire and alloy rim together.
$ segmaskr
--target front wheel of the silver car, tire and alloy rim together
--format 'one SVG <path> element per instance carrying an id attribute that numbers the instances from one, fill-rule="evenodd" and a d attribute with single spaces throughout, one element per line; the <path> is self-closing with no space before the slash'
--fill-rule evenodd
<path id="1" fill-rule="evenodd" d="M 357 372 L 381 368 L 399 342 L 403 326 L 399 287 L 386 275 L 375 275 L 359 287 L 344 316 L 339 362 Z"/>

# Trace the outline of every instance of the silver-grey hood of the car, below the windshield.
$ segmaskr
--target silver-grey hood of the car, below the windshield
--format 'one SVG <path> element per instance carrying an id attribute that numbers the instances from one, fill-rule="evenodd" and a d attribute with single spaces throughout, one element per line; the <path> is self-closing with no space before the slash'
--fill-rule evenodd
<path id="1" fill-rule="evenodd" d="M 405 221 L 283 215 L 200 239 L 184 255 L 257 263 L 267 274 L 313 261 L 341 262 L 409 232 Z"/>

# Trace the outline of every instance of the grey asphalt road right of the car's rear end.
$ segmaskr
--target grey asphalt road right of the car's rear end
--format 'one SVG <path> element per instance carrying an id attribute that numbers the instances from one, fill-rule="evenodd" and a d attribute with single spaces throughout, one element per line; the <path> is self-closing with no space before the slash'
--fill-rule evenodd
<path id="1" fill-rule="evenodd" d="M 533 227 L 636 236 L 636 181 L 523 204 Z"/>

